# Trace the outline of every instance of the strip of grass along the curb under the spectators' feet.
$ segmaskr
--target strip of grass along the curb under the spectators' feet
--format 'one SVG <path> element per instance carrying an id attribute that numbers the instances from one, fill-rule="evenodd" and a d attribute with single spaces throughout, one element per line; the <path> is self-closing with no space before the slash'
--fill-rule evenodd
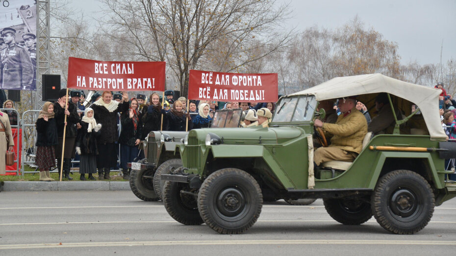
<path id="1" fill-rule="evenodd" d="M 25 171 L 35 171 L 35 168 L 31 168 L 30 166 L 25 166 Z M 118 177 L 117 174 L 119 174 L 118 171 L 111 171 L 111 179 L 110 180 L 101 180 L 101 181 L 126 181 L 122 177 Z M 93 176 L 95 177 L 96 180 L 94 181 L 99 181 L 98 179 L 98 173 L 94 173 Z M 78 172 L 72 172 L 70 174 L 70 177 L 73 178 L 72 181 L 80 181 L 79 177 L 80 174 Z M 58 173 L 52 173 L 51 172 L 51 178 L 54 180 L 58 180 Z M 85 175 L 85 178 L 87 179 L 87 174 Z M 25 173 L 24 176 L 19 175 L 19 176 L 14 176 L 14 175 L 6 175 L 6 176 L 0 176 L 0 181 L 40 181 L 40 174 L 39 173 Z M 68 181 L 67 179 L 62 179 L 62 181 L 67 181 L 67 182 L 72 182 Z M 87 180 L 87 182 L 91 182 L 92 180 Z"/>

